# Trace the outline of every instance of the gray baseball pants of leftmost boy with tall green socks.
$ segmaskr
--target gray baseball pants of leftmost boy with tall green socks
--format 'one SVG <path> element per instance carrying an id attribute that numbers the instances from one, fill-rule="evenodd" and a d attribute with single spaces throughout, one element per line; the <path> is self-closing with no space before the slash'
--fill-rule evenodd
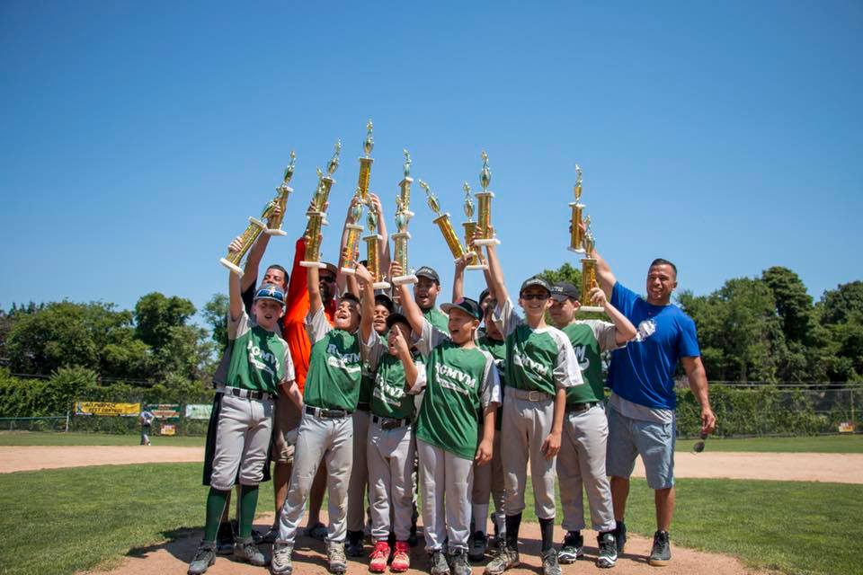
<path id="1" fill-rule="evenodd" d="M 239 472 L 241 485 L 257 485 L 270 449 L 272 401 L 222 394 L 221 402 L 209 484 L 230 491 Z"/>

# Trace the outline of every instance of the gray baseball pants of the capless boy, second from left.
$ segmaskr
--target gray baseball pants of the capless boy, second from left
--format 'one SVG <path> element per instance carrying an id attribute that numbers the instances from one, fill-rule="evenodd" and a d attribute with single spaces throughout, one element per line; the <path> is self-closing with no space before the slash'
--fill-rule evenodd
<path id="1" fill-rule="evenodd" d="M 330 520 L 326 540 L 330 543 L 344 542 L 348 481 L 353 461 L 352 433 L 351 417 L 320 418 L 304 411 L 294 451 L 294 466 L 290 471 L 288 497 L 279 514 L 279 543 L 294 543 L 321 460 L 326 464 L 327 514 Z"/>

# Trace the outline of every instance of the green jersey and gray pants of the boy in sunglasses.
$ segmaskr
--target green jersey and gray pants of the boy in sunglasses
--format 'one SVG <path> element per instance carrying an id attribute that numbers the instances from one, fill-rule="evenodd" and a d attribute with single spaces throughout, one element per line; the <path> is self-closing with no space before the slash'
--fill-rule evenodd
<path id="1" fill-rule="evenodd" d="M 524 509 L 527 466 L 539 519 L 555 517 L 555 459 L 542 444 L 551 433 L 557 389 L 582 385 L 582 371 L 569 339 L 555 327 L 534 330 L 507 299 L 495 310 L 495 323 L 506 336 L 506 389 L 503 393 L 504 483 L 506 514 Z"/>

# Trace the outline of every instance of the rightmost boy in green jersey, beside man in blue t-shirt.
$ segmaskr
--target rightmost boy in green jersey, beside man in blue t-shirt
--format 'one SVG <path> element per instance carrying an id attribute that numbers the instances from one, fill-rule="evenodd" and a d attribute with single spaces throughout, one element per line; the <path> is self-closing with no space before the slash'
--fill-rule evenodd
<path id="1" fill-rule="evenodd" d="M 605 447 L 609 437 L 609 422 L 605 417 L 602 382 L 603 351 L 618 349 L 636 336 L 635 326 L 613 305 L 600 288 L 591 291 L 592 303 L 601 305 L 612 323 L 599 320 L 576 320 L 581 304 L 580 294 L 571 283 L 556 283 L 551 287 L 553 304 L 548 310 L 555 327 L 569 338 L 575 358 L 588 385 L 566 390 L 564 439 L 557 454 L 557 482 L 560 502 L 564 508 L 564 544 L 557 553 L 561 563 L 573 563 L 583 554 L 584 509 L 582 486 L 591 503 L 591 522 L 599 532 L 600 555 L 596 564 L 614 567 L 618 560 L 614 541 L 614 509 L 611 488 L 605 474 Z"/>

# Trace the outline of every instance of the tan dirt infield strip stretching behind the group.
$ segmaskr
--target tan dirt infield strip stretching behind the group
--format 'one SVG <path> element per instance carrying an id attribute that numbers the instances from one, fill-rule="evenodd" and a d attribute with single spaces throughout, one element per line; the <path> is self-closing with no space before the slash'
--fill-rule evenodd
<path id="1" fill-rule="evenodd" d="M 0 473 L 85 465 L 199 462 L 203 453 L 203 447 L 0 447 Z M 674 455 L 674 474 L 698 479 L 863 483 L 863 454 L 678 452 Z M 635 475 L 645 475 L 640 458 Z"/>

